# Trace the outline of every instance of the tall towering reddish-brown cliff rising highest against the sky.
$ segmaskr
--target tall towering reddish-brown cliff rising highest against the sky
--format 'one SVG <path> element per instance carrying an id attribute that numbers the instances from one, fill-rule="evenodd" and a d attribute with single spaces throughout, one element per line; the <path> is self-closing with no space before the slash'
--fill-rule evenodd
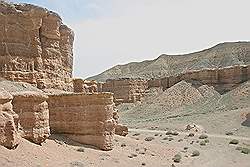
<path id="1" fill-rule="evenodd" d="M 0 2 L 0 77 L 70 90 L 73 40 L 56 13 Z"/>

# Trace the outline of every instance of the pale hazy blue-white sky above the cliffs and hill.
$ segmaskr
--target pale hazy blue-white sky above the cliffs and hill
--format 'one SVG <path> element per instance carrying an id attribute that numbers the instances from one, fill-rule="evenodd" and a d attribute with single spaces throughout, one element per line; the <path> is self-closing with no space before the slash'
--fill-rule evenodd
<path id="1" fill-rule="evenodd" d="M 13 0 L 58 12 L 75 32 L 74 75 L 162 53 L 249 41 L 249 0 Z"/>

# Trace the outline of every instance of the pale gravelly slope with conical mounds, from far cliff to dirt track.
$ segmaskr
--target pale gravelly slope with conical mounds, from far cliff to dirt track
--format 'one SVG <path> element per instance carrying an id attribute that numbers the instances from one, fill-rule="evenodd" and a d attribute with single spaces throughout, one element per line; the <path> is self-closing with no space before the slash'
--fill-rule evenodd
<path id="1" fill-rule="evenodd" d="M 244 123 L 244 115 L 250 111 L 250 81 L 223 95 L 213 87 L 185 81 L 164 92 L 150 91 L 141 103 L 118 106 L 121 123 L 130 128 L 157 126 L 160 129 L 196 123 L 209 133 L 225 134 L 234 129 L 235 134 L 250 135 L 249 124 Z"/>

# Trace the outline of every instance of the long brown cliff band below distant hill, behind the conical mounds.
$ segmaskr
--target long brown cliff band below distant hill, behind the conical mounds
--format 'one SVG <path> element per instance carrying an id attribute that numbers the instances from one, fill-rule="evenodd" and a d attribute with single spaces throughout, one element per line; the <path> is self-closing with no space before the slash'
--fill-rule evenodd
<path id="1" fill-rule="evenodd" d="M 150 87 L 163 87 L 163 90 L 175 85 L 182 80 L 199 81 L 202 84 L 214 86 L 215 89 L 224 93 L 237 87 L 250 79 L 250 66 L 231 66 L 219 69 L 204 69 L 199 71 L 189 71 L 177 76 L 170 76 L 159 79 L 149 80 Z"/>

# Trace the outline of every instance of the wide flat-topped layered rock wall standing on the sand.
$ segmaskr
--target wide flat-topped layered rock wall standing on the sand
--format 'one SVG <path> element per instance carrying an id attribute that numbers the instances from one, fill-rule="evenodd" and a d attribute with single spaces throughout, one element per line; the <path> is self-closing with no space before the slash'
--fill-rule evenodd
<path id="1" fill-rule="evenodd" d="M 111 93 L 49 96 L 50 127 L 83 144 L 112 149 L 116 122 Z"/>

